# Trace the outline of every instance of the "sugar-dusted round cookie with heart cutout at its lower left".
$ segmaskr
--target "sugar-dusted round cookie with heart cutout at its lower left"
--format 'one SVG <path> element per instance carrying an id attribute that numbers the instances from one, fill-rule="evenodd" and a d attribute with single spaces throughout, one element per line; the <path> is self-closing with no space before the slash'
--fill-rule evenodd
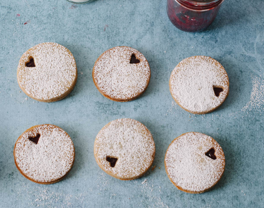
<path id="1" fill-rule="evenodd" d="M 152 165 L 155 143 L 150 131 L 134 119 L 117 119 L 106 124 L 94 142 L 98 166 L 121 180 L 144 175 Z"/>

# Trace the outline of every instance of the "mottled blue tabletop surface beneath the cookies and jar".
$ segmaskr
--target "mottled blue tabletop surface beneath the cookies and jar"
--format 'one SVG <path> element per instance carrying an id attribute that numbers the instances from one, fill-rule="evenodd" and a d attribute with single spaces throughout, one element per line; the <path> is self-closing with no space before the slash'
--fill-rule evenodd
<path id="1" fill-rule="evenodd" d="M 0 207 L 264 206 L 263 0 L 225 1 L 214 23 L 199 33 L 176 29 L 167 17 L 165 0 L 97 0 L 89 4 L 0 0 L 0 26 Z M 20 57 L 41 42 L 66 46 L 77 62 L 76 86 L 55 103 L 26 100 L 17 83 Z M 103 97 L 92 79 L 98 56 L 118 45 L 141 51 L 151 68 L 147 91 L 127 103 Z M 217 59 L 229 76 L 230 94 L 210 114 L 189 114 L 175 104 L 169 92 L 171 71 L 193 55 Z M 133 181 L 108 176 L 93 156 L 98 131 L 122 117 L 146 125 L 156 144 L 156 168 Z M 18 136 L 43 123 L 63 128 L 76 149 L 72 170 L 52 185 L 27 180 L 13 159 Z M 164 168 L 168 145 L 189 131 L 212 136 L 225 152 L 222 179 L 203 194 L 179 191 Z"/>

